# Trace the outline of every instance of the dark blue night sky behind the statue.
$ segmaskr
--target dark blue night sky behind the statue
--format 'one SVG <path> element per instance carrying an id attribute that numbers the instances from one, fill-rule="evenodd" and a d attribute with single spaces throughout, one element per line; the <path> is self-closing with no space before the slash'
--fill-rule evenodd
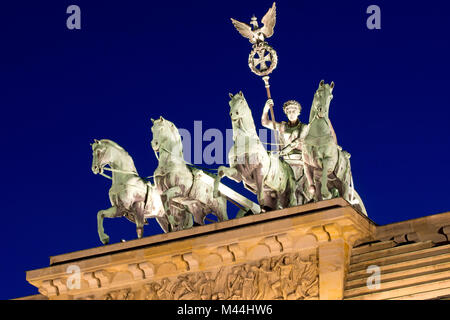
<path id="1" fill-rule="evenodd" d="M 81 30 L 66 28 L 71 4 L 81 8 Z M 366 27 L 372 4 L 381 8 L 381 30 Z M 202 120 L 203 131 L 225 133 L 228 93 L 242 90 L 262 128 L 264 85 L 247 66 L 250 43 L 229 18 L 248 23 L 271 5 L 2 3 L 0 273 L 9 276 L 0 299 L 36 294 L 25 271 L 48 266 L 49 256 L 101 245 L 96 216 L 110 206 L 110 182 L 91 172 L 94 138 L 119 143 L 149 176 L 157 166 L 150 118 L 162 115 L 192 134 Z M 330 119 L 380 225 L 450 209 L 449 9 L 444 1 L 277 1 L 268 39 L 279 57 L 276 118 L 296 99 L 307 122 L 319 81 L 335 82 Z M 161 232 L 149 222 L 146 236 Z M 105 220 L 105 231 L 112 243 L 136 237 L 124 218 Z"/>

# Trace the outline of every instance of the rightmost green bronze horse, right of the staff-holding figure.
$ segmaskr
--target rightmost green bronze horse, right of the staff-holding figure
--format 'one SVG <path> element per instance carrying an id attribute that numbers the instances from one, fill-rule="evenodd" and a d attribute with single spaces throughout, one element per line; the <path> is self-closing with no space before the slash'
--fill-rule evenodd
<path id="1" fill-rule="evenodd" d="M 315 201 L 343 197 L 367 215 L 353 187 L 350 154 L 338 146 L 328 117 L 334 82 L 320 81 L 314 94 L 307 133 L 303 141 L 303 162 L 309 192 Z"/>

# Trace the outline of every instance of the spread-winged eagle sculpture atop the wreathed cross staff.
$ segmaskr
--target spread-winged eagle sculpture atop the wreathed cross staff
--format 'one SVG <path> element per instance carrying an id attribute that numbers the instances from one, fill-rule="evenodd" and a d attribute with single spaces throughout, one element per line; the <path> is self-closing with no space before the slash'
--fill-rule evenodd
<path id="1" fill-rule="evenodd" d="M 231 18 L 231 22 L 239 33 L 250 40 L 250 43 L 255 44 L 263 42 L 266 38 L 270 38 L 273 35 L 273 28 L 275 27 L 276 20 L 276 7 L 275 2 L 272 5 L 265 16 L 261 19 L 263 26 L 258 28 L 258 20 L 255 16 L 252 17 L 250 26 L 244 22 L 237 21 Z"/>

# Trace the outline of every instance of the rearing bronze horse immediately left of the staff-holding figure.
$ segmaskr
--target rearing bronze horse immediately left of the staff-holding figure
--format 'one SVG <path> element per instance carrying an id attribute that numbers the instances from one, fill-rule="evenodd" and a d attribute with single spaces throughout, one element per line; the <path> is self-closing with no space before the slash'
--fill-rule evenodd
<path id="1" fill-rule="evenodd" d="M 215 193 L 220 179 L 227 176 L 242 181 L 246 189 L 257 195 L 262 208 L 276 210 L 296 206 L 292 168 L 277 155 L 269 155 L 264 148 L 243 93 L 230 93 L 230 98 L 234 145 L 228 153 L 230 167 L 218 168 Z"/>

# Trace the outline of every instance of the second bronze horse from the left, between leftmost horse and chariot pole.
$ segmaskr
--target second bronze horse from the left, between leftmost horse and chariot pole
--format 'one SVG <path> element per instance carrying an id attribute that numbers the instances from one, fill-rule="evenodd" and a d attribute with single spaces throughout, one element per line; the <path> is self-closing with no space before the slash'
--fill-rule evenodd
<path id="1" fill-rule="evenodd" d="M 203 171 L 184 161 L 181 136 L 175 125 L 163 117 L 152 122 L 151 145 L 159 161 L 154 180 L 167 218 L 158 222 L 164 231 L 183 230 L 194 223 L 203 225 L 209 213 L 219 221 L 228 220 L 226 197 L 214 198 L 212 185 L 200 178 Z"/>

